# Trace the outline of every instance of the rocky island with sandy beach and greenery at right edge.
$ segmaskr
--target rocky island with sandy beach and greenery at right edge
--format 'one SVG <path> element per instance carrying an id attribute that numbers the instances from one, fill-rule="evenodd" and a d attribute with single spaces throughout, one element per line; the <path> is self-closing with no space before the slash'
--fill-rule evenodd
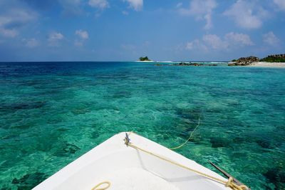
<path id="1" fill-rule="evenodd" d="M 276 54 L 276 55 L 269 55 L 262 59 L 259 59 L 257 56 L 248 56 L 248 57 L 241 57 L 239 59 L 233 59 L 229 62 L 229 66 L 250 66 L 255 64 L 278 64 L 278 63 L 285 63 L 285 54 Z M 279 64 L 281 65 L 281 64 Z"/>

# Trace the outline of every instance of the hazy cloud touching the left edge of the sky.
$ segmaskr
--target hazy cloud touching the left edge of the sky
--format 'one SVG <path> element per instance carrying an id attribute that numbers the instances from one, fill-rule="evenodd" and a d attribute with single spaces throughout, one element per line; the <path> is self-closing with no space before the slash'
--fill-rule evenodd
<path id="1" fill-rule="evenodd" d="M 37 14 L 34 11 L 24 8 L 11 8 L 0 13 L 0 34 L 6 37 L 15 37 L 19 29 L 35 21 Z"/>

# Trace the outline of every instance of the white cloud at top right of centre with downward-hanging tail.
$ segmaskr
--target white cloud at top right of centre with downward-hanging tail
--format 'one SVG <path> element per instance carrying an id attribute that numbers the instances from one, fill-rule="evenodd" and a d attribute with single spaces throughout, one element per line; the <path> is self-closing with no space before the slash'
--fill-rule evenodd
<path id="1" fill-rule="evenodd" d="M 189 9 L 179 9 L 179 13 L 185 16 L 195 16 L 197 20 L 206 21 L 204 29 L 212 28 L 212 11 L 217 7 L 215 0 L 192 0 Z"/>

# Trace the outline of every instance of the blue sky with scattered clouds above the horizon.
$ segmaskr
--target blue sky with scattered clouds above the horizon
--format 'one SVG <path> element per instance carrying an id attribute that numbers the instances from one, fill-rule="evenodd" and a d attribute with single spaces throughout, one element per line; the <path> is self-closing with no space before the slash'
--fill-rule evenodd
<path id="1" fill-rule="evenodd" d="M 0 0 L 0 61 L 285 53 L 285 0 Z"/>

